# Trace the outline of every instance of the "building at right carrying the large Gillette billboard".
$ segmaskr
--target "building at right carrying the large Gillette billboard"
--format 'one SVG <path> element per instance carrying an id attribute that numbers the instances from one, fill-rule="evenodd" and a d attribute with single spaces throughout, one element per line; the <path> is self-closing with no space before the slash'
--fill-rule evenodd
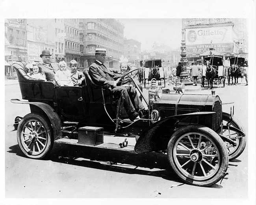
<path id="1" fill-rule="evenodd" d="M 200 60 L 200 55 L 210 48 L 227 57 L 248 50 L 246 19 L 185 18 L 182 29 L 185 30 L 189 61 Z"/>

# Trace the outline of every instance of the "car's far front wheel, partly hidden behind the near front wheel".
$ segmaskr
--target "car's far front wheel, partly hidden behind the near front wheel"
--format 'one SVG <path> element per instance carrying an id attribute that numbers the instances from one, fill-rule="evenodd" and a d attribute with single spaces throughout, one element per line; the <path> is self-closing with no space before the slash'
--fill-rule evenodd
<path id="1" fill-rule="evenodd" d="M 243 128 L 238 120 L 234 117 L 232 117 L 231 119 L 230 114 L 223 112 L 223 125 L 226 125 L 228 122 L 230 122 L 230 126 L 237 128 L 244 133 Z M 243 150 L 245 150 L 246 137 L 242 136 L 234 130 L 228 129 L 223 129 L 223 135 L 229 137 L 231 140 L 236 142 L 236 146 L 226 142 L 229 160 L 231 161 L 233 159 L 236 159 L 242 154 Z"/>

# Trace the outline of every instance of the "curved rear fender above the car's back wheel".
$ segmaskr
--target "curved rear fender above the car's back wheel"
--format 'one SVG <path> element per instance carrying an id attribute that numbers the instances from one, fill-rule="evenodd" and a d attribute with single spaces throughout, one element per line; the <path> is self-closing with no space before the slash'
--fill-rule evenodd
<path id="1" fill-rule="evenodd" d="M 18 103 L 18 104 L 29 104 L 31 112 L 45 114 L 50 123 L 52 124 L 52 132 L 54 134 L 54 140 L 59 139 L 62 137 L 61 135 L 61 120 L 59 115 L 56 111 L 46 103 L 38 103 L 38 102 L 28 102 L 28 101 L 21 101 L 19 99 L 11 99 L 11 103 Z"/>

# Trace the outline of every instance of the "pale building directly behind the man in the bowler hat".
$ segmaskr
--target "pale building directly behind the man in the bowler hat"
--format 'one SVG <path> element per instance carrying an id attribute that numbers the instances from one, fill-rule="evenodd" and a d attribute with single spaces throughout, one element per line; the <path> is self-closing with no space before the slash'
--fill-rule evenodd
<path id="1" fill-rule="evenodd" d="M 42 50 L 50 50 L 55 62 L 54 19 L 27 19 L 28 60 L 41 61 Z"/>

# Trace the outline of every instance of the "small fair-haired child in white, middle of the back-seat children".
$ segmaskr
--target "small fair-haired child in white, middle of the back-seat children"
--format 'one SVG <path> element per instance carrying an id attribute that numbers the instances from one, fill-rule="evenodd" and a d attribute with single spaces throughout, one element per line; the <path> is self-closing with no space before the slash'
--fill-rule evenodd
<path id="1" fill-rule="evenodd" d="M 74 86 L 65 61 L 59 62 L 59 70 L 55 73 L 55 81 L 58 86 Z"/>

